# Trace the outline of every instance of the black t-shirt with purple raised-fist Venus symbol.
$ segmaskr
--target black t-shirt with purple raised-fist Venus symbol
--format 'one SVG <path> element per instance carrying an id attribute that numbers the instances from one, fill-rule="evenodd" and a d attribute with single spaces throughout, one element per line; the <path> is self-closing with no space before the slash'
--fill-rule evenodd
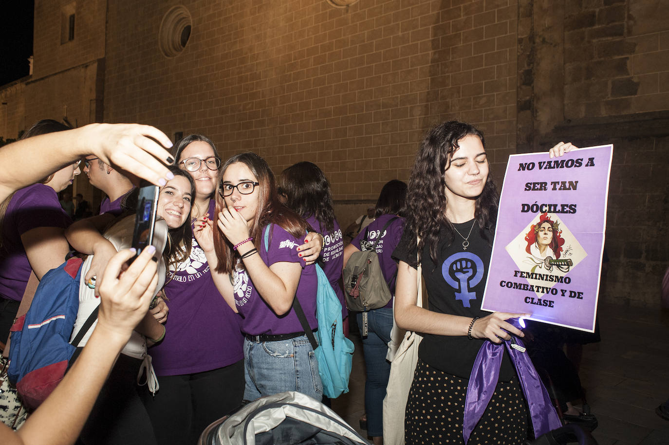
<path id="1" fill-rule="evenodd" d="M 463 224 L 454 224 L 461 234 L 468 234 L 474 220 Z M 416 251 L 408 251 L 408 230 L 393 252 L 393 258 L 403 261 L 414 268 L 417 267 Z M 450 244 L 450 236 L 446 227 L 439 234 L 437 248 L 437 264 L 429 256 L 429 246 L 423 246 L 421 264 L 423 280 L 427 288 L 427 304 L 429 310 L 437 313 L 462 315 L 463 317 L 486 317 L 488 311 L 481 310 L 483 292 L 488 278 L 488 263 L 492 251 L 492 234 L 484 240 L 474 227 L 469 236 L 467 250 L 462 248 L 464 241 L 458 234 Z M 418 349 L 418 357 L 428 365 L 446 373 L 469 379 L 476 354 L 484 340 L 468 339 L 466 335 L 452 337 L 447 335 L 423 335 Z M 500 381 L 509 381 L 515 371 L 504 351 L 504 359 L 500 368 Z"/>

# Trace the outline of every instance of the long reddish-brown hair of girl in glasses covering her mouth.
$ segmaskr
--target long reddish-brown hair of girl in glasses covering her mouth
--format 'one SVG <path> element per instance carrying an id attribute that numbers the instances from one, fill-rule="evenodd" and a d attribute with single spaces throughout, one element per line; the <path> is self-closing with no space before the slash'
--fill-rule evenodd
<path id="1" fill-rule="evenodd" d="M 240 155 L 234 155 L 225 161 L 225 164 L 221 165 L 217 178 L 219 191 L 227 167 L 239 162 L 244 163 L 250 169 L 251 173 L 256 177 L 256 181 L 260 184 L 254 191 L 254 193 L 258 193 L 258 213 L 249 231 L 249 236 L 253 238 L 254 247 L 260 251 L 261 243 L 264 242 L 262 230 L 268 224 L 278 224 L 292 236 L 304 236 L 308 224 L 295 211 L 279 201 L 274 173 L 272 173 L 272 169 L 270 169 L 268 163 L 256 153 L 249 151 Z M 223 199 L 221 193 L 216 193 L 216 215 L 223 208 L 225 208 L 225 199 Z M 216 272 L 231 274 L 235 268 L 235 262 L 240 258 L 239 254 L 233 250 L 232 244 L 220 230 L 213 231 L 213 242 L 216 256 L 219 259 L 218 266 L 215 269 Z"/>

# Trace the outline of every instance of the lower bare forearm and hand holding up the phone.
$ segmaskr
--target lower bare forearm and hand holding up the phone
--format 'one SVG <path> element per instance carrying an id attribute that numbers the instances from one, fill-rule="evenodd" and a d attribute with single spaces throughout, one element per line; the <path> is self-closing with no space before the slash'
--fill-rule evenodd
<path id="1" fill-rule="evenodd" d="M 67 445 L 79 436 L 118 353 L 147 313 L 158 282 L 151 248 L 121 272 L 133 255 L 132 250 L 122 250 L 109 262 L 106 284 L 100 289 L 98 325 L 70 371 L 20 430 L 13 432 L 0 423 L 0 443 Z"/>

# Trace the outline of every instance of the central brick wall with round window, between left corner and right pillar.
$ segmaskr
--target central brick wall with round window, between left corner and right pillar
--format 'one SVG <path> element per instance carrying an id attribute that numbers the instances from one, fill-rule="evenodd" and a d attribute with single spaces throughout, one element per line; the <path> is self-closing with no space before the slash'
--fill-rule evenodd
<path id="1" fill-rule="evenodd" d="M 185 1 L 191 39 L 165 58 L 158 30 L 177 3 L 113 2 L 105 118 L 204 132 L 224 157 L 254 150 L 276 171 L 314 161 L 337 199 L 407 179 L 424 130 L 459 118 L 484 130 L 501 174 L 516 133 L 514 3 Z"/>

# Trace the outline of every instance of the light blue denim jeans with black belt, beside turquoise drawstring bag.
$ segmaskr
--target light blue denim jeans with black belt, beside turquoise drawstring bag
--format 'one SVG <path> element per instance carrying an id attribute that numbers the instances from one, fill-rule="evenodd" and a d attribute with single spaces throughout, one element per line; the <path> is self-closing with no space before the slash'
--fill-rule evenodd
<path id="1" fill-rule="evenodd" d="M 318 359 L 306 335 L 281 341 L 244 340 L 244 399 L 299 391 L 322 399 Z"/>

